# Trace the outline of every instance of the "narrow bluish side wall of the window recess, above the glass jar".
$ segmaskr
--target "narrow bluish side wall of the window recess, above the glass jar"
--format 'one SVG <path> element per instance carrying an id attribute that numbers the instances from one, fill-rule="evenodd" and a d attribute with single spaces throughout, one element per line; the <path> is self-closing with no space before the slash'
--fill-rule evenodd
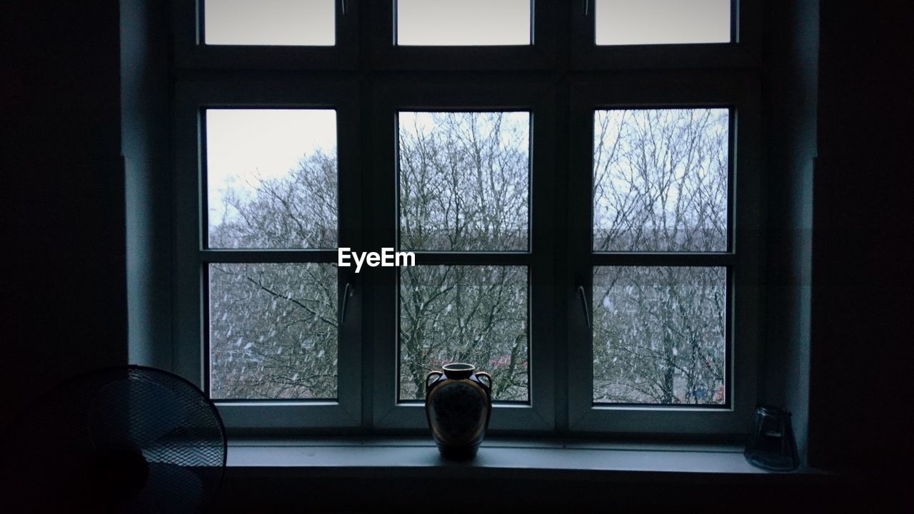
<path id="1" fill-rule="evenodd" d="M 764 70 L 769 261 L 763 402 L 792 412 L 805 462 L 809 405 L 818 0 L 772 2 Z"/>

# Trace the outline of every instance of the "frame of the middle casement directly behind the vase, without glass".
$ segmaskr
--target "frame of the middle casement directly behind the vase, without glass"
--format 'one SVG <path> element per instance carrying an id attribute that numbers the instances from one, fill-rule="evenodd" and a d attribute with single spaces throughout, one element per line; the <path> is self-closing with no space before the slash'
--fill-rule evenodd
<path id="1" fill-rule="evenodd" d="M 547 81 L 515 81 L 493 85 L 483 78 L 448 75 L 420 83 L 410 77 L 378 81 L 372 105 L 372 162 L 388 163 L 374 174 L 371 189 L 392 191 L 378 195 L 372 212 L 375 223 L 370 248 L 399 249 L 399 157 L 397 114 L 401 111 L 526 111 L 530 112 L 530 169 L 527 252 L 420 252 L 416 264 L 516 264 L 527 267 L 527 332 L 529 404 L 494 402 L 491 431 L 549 431 L 554 427 L 554 321 L 548 313 L 532 316 L 535 305 L 551 304 L 553 296 L 553 234 L 547 230 L 554 212 L 548 192 L 554 183 L 554 91 Z M 484 100 L 481 100 L 484 99 Z M 538 121 L 537 120 L 541 120 Z M 544 123 L 545 122 L 545 123 Z M 538 128 L 539 124 L 546 127 Z M 533 127 L 537 126 L 537 130 Z M 391 144 L 392 143 L 392 144 Z M 537 150 L 534 150 L 534 149 Z M 386 170 L 386 172 L 385 172 Z M 424 404 L 398 402 L 399 391 L 399 269 L 370 273 L 374 305 L 371 333 L 375 335 L 374 426 L 379 430 L 421 429 L 426 426 Z M 537 287 L 533 287 L 537 284 Z M 382 307 L 387 305 L 387 307 Z M 391 308 L 391 306 L 395 308 Z M 384 310 L 382 310 L 384 308 Z M 383 335 L 387 334 L 385 337 Z M 536 343 L 535 343 L 536 341 Z M 532 380 L 537 376 L 537 380 Z"/>

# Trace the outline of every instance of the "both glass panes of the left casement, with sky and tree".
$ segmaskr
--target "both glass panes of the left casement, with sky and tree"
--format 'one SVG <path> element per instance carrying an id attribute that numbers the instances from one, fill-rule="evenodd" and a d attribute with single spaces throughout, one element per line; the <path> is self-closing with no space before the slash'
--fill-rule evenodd
<path id="1" fill-rule="evenodd" d="M 334 111 L 207 109 L 204 121 L 208 248 L 336 248 Z M 209 262 L 207 275 L 212 398 L 336 397 L 331 263 Z"/>

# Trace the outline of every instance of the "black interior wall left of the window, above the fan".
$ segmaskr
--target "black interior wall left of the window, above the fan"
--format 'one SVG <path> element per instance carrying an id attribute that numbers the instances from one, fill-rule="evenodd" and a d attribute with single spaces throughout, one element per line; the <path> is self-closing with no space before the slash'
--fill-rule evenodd
<path id="1" fill-rule="evenodd" d="M 118 2 L 4 2 L 0 426 L 127 361 Z"/>

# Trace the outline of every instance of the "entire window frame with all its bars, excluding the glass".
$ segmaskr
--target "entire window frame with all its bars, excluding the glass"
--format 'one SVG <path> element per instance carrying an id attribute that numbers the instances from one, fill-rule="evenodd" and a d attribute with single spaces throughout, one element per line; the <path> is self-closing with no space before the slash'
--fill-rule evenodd
<path id="1" fill-rule="evenodd" d="M 416 252 L 418 264 L 523 262 L 529 266 L 530 312 L 535 305 L 550 307 L 530 316 L 530 404 L 496 403 L 490 430 L 494 434 L 654 434 L 703 439 L 744 434 L 760 397 L 758 364 L 764 336 L 760 268 L 766 248 L 759 213 L 765 192 L 760 177 L 760 27 L 764 20 L 760 0 L 733 0 L 735 28 L 730 43 L 618 47 L 595 45 L 592 0 L 568 4 L 531 0 L 534 31 L 529 46 L 398 47 L 393 44 L 395 3 L 336 2 L 334 47 L 274 47 L 204 45 L 200 42 L 202 0 L 173 0 L 173 369 L 206 387 L 207 347 L 204 343 L 201 348 L 200 342 L 206 340 L 208 331 L 207 313 L 201 310 L 206 305 L 207 284 L 201 266 L 213 255 L 198 246 L 206 242 L 201 239 L 206 211 L 200 210 L 206 201 L 202 109 L 337 109 L 339 188 L 342 191 L 345 182 L 354 191 L 338 197 L 339 245 L 354 251 L 399 248 L 398 137 L 396 122 L 391 123 L 388 114 L 399 109 L 525 110 L 531 112 L 532 125 L 529 256 L 504 252 L 452 259 L 454 254 Z M 564 23 L 569 16 L 570 23 Z M 553 21 L 537 23 L 544 19 Z M 595 107 L 688 105 L 734 109 L 730 166 L 739 173 L 731 169 L 729 187 L 736 195 L 730 198 L 729 214 L 736 224 L 729 227 L 728 244 L 739 245 L 734 246 L 739 252 L 721 257 L 721 261 L 740 270 L 732 281 L 728 273 L 728 282 L 732 282 L 728 294 L 737 292 L 735 304 L 734 296 L 728 295 L 733 314 L 729 321 L 736 320 L 728 326 L 728 344 L 732 348 L 733 340 L 740 340 L 728 362 L 728 380 L 739 377 L 732 402 L 735 408 L 595 407 L 591 401 L 591 336 L 577 292 L 579 284 L 591 292 L 595 262 L 590 254 L 591 227 L 572 222 L 591 219 L 590 200 L 578 199 L 582 187 L 589 187 L 592 174 L 592 111 Z M 583 117 L 589 124 L 582 122 L 582 112 L 590 113 Z M 391 195 L 369 195 L 372 191 L 391 191 Z M 344 243 L 344 239 L 351 242 Z M 308 251 L 238 252 L 237 258 L 250 260 L 256 258 L 255 253 L 265 252 L 277 259 L 298 259 L 296 253 Z M 335 260 L 329 255 L 332 251 L 324 252 L 320 257 L 324 262 Z M 702 257 L 684 259 L 701 262 Z M 640 261 L 636 256 L 629 262 Z M 232 434 L 404 434 L 424 430 L 422 405 L 397 403 L 399 315 L 390 314 L 388 307 L 399 305 L 398 273 L 396 268 L 339 272 L 339 294 L 346 283 L 354 288 L 339 339 L 340 402 L 219 402 Z M 589 302 L 590 298 L 592 294 Z M 381 334 L 387 336 L 378 336 Z M 580 373 L 580 369 L 590 372 Z"/>

